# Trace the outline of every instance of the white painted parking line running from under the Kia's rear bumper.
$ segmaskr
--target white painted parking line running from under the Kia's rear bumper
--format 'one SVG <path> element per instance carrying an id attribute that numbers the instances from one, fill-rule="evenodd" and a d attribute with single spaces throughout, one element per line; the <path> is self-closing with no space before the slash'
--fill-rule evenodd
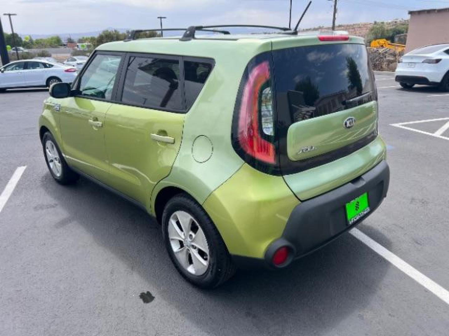
<path id="1" fill-rule="evenodd" d="M 349 233 L 449 305 L 449 291 L 406 263 L 396 254 L 393 254 L 378 242 L 365 235 L 365 233 L 362 233 L 359 229 L 353 228 Z"/>

